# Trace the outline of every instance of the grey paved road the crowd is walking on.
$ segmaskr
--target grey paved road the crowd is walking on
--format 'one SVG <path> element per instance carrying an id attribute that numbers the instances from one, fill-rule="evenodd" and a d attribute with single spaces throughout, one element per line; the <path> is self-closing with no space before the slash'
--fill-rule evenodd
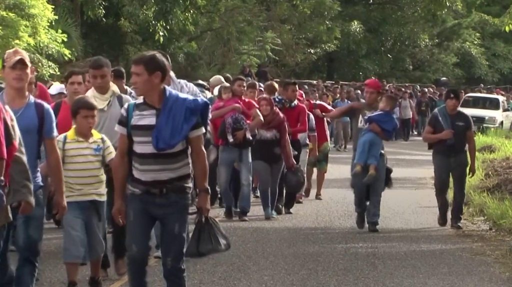
<path id="1" fill-rule="evenodd" d="M 232 249 L 187 260 L 191 287 L 241 286 L 510 286 L 512 279 L 468 236 L 439 228 L 432 188 L 431 156 L 418 138 L 387 145 L 393 189 L 382 197 L 381 232 L 355 228 L 349 189 L 351 152 L 333 152 L 324 200 L 307 200 L 292 216 L 264 221 L 254 203 L 250 222 L 225 222 Z M 220 216 L 222 211 L 213 213 Z M 460 233 L 460 232 L 459 232 Z M 48 224 L 37 286 L 65 286 L 60 230 Z M 481 253 L 481 252 L 479 252 Z M 11 256 L 15 256 L 11 254 Z M 82 286 L 87 286 L 82 269 Z M 104 286 L 127 286 L 125 278 Z M 160 261 L 151 260 L 150 286 L 164 286 Z"/>

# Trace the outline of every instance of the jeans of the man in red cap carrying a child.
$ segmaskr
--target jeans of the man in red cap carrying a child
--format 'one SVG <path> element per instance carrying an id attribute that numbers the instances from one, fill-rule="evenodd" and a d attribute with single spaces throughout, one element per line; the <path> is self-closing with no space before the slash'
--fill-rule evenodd
<path id="1" fill-rule="evenodd" d="M 361 138 L 359 138 L 359 140 L 361 140 Z M 354 165 L 352 165 L 352 167 L 353 166 Z M 352 176 L 355 212 L 366 212 L 367 222 L 378 225 L 380 218 L 380 199 L 382 198 L 382 192 L 384 191 L 384 183 L 386 180 L 385 155 L 380 154 L 377 163 L 377 176 L 375 177 L 375 180 L 370 184 L 365 184 L 362 181 L 367 174 L 368 168 L 365 167 L 362 173 L 358 173 Z"/>

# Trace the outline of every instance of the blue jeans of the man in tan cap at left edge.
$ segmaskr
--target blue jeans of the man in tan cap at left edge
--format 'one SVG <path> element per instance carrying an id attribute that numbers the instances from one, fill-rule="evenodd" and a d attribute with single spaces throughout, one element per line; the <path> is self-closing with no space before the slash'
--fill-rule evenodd
<path id="1" fill-rule="evenodd" d="M 14 246 L 18 252 L 18 265 L 14 273 L 9 266 L 7 257 L 13 225 L 11 222 L 7 225 L 2 249 L 0 250 L 0 286 L 34 287 L 45 219 L 45 202 L 42 188 L 34 192 L 34 201 L 35 206 L 32 213 L 26 216 L 18 215 L 15 208 L 12 210 L 13 221 L 16 221 Z"/>

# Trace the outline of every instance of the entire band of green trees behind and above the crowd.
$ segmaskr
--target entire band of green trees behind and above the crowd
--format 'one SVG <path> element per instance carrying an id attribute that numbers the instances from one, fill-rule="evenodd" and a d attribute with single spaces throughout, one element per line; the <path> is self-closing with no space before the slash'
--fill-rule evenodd
<path id="1" fill-rule="evenodd" d="M 95 55 L 162 50 L 181 78 L 268 64 L 274 77 L 512 82 L 510 0 L 3 0 L 0 53 L 42 78 Z"/>

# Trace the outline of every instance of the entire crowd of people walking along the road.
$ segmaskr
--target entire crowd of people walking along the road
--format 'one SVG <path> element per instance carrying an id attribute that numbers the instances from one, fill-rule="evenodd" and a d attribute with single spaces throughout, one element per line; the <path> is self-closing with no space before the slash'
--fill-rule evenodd
<path id="1" fill-rule="evenodd" d="M 457 111 L 463 97 L 457 90 L 377 79 L 278 82 L 264 67 L 254 74 L 248 66 L 240 76 L 190 83 L 176 77 L 161 52 L 135 57 L 130 74 L 128 87 L 123 68 L 94 57 L 87 69 L 70 70 L 47 88 L 36 81 L 25 51 L 5 54 L 0 285 L 34 286 L 45 214 L 62 227 L 69 287 L 77 286 L 83 265 L 90 268 L 89 286 L 109 276 L 108 233 L 115 273 L 127 273 L 131 286 L 147 285 L 152 233 L 167 286 L 185 286 L 191 200 L 204 216 L 218 204 L 226 219 L 241 222 L 255 208 L 251 197 L 260 199 L 265 220 L 292 214 L 311 196 L 314 170 L 314 199 L 322 200 L 330 150 L 347 152 L 352 141 L 356 225 L 378 232 L 389 180 L 382 142 L 417 133 L 437 155 L 439 225 L 445 226 L 450 174 L 455 182 L 461 166 L 463 174 L 468 165 L 474 171 L 471 118 Z M 453 130 L 431 116 L 444 110 Z M 451 140 L 456 148 L 446 149 Z M 305 186 L 293 187 L 287 173 L 301 175 L 301 162 Z M 451 227 L 460 229 L 464 184 L 457 182 Z M 7 256 L 11 245 L 18 253 L 15 270 Z"/>

